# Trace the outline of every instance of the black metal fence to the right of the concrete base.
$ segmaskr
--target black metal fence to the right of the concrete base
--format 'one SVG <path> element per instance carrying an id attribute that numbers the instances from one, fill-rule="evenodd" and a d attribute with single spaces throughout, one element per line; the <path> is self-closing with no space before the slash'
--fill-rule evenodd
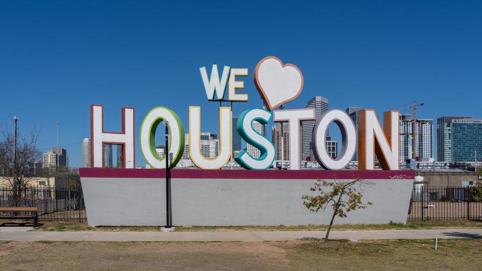
<path id="1" fill-rule="evenodd" d="M 482 202 L 470 187 L 430 186 L 412 191 L 409 221 L 469 219 L 482 221 Z"/>

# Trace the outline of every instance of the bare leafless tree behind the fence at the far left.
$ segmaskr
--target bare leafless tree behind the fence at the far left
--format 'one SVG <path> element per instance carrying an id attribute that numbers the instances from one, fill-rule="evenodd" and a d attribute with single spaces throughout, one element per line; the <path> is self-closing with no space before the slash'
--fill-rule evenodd
<path id="1" fill-rule="evenodd" d="M 13 189 L 13 200 L 20 204 L 24 188 L 38 178 L 42 153 L 37 149 L 36 130 L 17 132 L 17 156 L 14 161 L 15 134 L 7 128 L 0 131 L 0 175 Z"/>

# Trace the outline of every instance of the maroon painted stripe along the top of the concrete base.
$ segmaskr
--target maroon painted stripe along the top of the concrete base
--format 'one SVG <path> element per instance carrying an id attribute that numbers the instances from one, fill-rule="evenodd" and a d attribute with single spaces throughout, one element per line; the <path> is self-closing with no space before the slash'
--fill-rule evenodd
<path id="1" fill-rule="evenodd" d="M 164 169 L 80 168 L 80 177 L 166 178 Z M 173 179 L 413 179 L 410 170 L 195 170 L 172 169 Z"/>

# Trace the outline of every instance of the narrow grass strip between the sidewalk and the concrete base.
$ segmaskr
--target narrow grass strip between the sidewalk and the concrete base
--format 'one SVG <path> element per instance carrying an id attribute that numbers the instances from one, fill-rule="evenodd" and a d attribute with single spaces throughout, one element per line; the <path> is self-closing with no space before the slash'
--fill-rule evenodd
<path id="1" fill-rule="evenodd" d="M 42 226 L 35 231 L 159 231 L 160 227 L 89 227 L 87 223 L 42 222 Z M 176 231 L 228 231 L 228 230 L 326 230 L 326 225 L 308 226 L 228 226 L 228 227 L 176 227 Z M 407 224 L 355 224 L 333 225 L 334 230 L 383 230 L 383 229 L 457 229 L 482 228 L 482 221 L 453 220 L 453 221 L 410 221 Z"/>

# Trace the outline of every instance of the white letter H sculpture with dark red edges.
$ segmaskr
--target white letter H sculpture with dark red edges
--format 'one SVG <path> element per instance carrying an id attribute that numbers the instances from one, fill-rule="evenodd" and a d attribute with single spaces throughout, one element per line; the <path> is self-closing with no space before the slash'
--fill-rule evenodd
<path id="1" fill-rule="evenodd" d="M 134 143 L 134 108 L 122 108 L 122 132 L 104 131 L 104 111 L 102 105 L 90 105 L 90 138 L 92 167 L 103 166 L 103 145 L 123 145 L 122 167 L 133 169 L 135 161 Z"/>

